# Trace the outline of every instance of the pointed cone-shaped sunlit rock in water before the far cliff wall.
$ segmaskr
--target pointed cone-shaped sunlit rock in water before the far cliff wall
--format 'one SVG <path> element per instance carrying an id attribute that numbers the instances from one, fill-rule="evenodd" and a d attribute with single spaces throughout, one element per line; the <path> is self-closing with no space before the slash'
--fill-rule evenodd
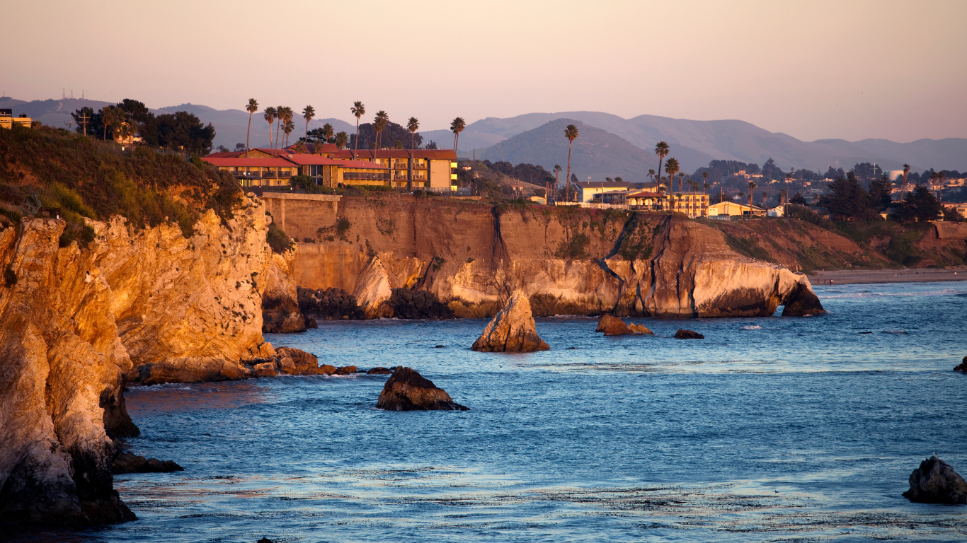
<path id="1" fill-rule="evenodd" d="M 523 291 L 513 293 L 504 308 L 494 315 L 484 333 L 474 342 L 474 351 L 484 353 L 549 351 L 538 336 L 531 314 L 531 302 Z"/>

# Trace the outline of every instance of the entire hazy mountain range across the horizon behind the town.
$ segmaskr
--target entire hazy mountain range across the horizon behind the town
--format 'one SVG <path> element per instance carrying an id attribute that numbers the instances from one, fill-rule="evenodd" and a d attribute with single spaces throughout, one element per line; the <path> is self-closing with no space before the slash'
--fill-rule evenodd
<path id="1" fill-rule="evenodd" d="M 14 114 L 26 113 L 46 125 L 66 126 L 71 113 L 83 106 L 95 110 L 111 102 L 98 100 L 15 100 L 0 98 L 0 108 L 13 108 Z M 215 109 L 206 105 L 183 103 L 153 109 L 156 114 L 188 111 L 203 123 L 216 129 L 215 145 L 234 149 L 244 143 L 249 126 L 249 113 L 241 109 Z M 897 143 L 885 139 L 846 141 L 821 139 L 802 141 L 781 132 L 760 129 L 745 121 L 690 121 L 655 115 L 639 115 L 625 119 L 610 113 L 570 111 L 561 113 L 528 113 L 510 118 L 487 117 L 471 123 L 460 133 L 459 155 L 490 160 L 530 162 L 546 168 L 555 163 L 566 165 L 568 141 L 562 119 L 580 123 L 581 135 L 574 141 L 580 148 L 571 157 L 572 169 L 582 175 L 622 176 L 640 180 L 649 168 L 658 166 L 655 144 L 665 141 L 671 147 L 670 157 L 682 164 L 683 171 L 693 171 L 712 159 L 740 160 L 761 165 L 769 158 L 785 170 L 790 167 L 825 172 L 828 166 L 849 169 L 857 162 L 875 162 L 885 170 L 900 169 L 908 163 L 915 171 L 934 168 L 967 170 L 967 138 L 940 140 L 920 139 Z M 295 141 L 306 129 L 296 118 Z M 336 131 L 355 131 L 355 125 L 339 119 L 313 119 L 308 128 L 330 123 Z M 251 118 L 250 145 L 269 144 L 269 125 L 261 114 Z M 558 130 L 556 133 L 554 130 Z M 436 141 L 441 148 L 453 145 L 454 134 L 448 129 L 420 132 L 424 141 Z"/>

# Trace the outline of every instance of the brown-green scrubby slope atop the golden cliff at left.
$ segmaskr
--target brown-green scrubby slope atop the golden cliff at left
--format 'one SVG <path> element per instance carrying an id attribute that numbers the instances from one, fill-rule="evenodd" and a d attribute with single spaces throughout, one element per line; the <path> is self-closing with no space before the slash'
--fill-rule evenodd
<path id="1" fill-rule="evenodd" d="M 106 220 L 121 215 L 136 227 L 177 223 L 185 237 L 206 210 L 231 217 L 242 187 L 235 179 L 193 157 L 147 147 L 122 151 L 113 142 L 65 129 L 0 130 L 0 204 L 2 213 L 36 214 L 58 208 L 67 223 L 61 245 L 86 245 L 93 230 L 84 217 Z"/>

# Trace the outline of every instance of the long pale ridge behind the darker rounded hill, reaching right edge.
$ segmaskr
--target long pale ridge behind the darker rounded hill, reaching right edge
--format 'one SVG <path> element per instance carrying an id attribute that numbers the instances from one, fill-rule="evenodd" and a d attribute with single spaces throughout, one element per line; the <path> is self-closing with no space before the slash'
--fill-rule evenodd
<path id="1" fill-rule="evenodd" d="M 481 150 L 489 147 L 486 145 L 488 141 L 503 141 L 541 127 L 549 121 L 565 118 L 615 134 L 646 152 L 651 152 L 659 140 L 666 141 L 671 146 L 673 155 L 679 155 L 679 161 L 689 171 L 707 164 L 707 161 L 696 163 L 690 157 L 706 156 L 755 162 L 760 165 L 771 157 L 783 169 L 795 166 L 813 171 L 825 171 L 828 166 L 837 164 L 848 169 L 857 162 L 876 162 L 884 169 L 899 169 L 904 162 L 918 171 L 931 167 L 967 169 L 965 138 L 923 139 L 910 143 L 882 139 L 806 142 L 781 132 L 760 129 L 745 121 L 689 121 L 655 115 L 623 119 L 617 115 L 594 111 L 529 113 L 508 119 L 488 117 L 470 124 L 460 134 L 460 155 L 469 155 L 473 149 L 477 149 L 480 157 Z M 425 132 L 425 135 L 427 133 L 435 134 L 435 131 Z M 452 134 L 450 138 L 449 141 L 453 141 Z M 560 139 L 567 147 L 563 134 Z"/>

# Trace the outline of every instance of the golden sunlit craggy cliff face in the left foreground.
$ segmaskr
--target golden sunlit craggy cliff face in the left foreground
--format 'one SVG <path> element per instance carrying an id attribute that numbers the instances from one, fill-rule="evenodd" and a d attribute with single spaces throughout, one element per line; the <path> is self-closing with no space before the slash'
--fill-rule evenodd
<path id="1" fill-rule="evenodd" d="M 65 223 L 0 231 L 0 522 L 88 525 L 133 518 L 112 490 L 111 438 L 137 434 L 123 377 L 145 383 L 244 377 L 274 354 L 261 289 L 266 215 L 246 199 L 224 222 L 91 222 L 88 248 L 59 247 Z"/>

